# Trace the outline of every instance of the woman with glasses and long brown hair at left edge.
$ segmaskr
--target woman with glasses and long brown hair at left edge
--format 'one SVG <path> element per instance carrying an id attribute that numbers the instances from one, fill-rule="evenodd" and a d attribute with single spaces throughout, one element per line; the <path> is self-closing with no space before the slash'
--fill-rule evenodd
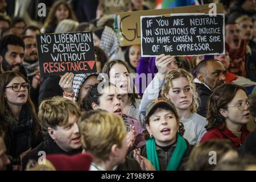
<path id="1" fill-rule="evenodd" d="M 0 75 L 0 133 L 4 134 L 6 153 L 13 165 L 20 165 L 23 156 L 42 142 L 28 90 L 30 83 L 21 73 L 7 71 Z"/>

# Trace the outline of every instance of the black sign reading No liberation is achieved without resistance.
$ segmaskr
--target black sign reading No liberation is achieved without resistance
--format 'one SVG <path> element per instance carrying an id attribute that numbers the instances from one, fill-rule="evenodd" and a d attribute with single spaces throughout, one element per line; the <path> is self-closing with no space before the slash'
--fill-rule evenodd
<path id="1" fill-rule="evenodd" d="M 96 72 L 92 32 L 37 34 L 42 76 Z"/>

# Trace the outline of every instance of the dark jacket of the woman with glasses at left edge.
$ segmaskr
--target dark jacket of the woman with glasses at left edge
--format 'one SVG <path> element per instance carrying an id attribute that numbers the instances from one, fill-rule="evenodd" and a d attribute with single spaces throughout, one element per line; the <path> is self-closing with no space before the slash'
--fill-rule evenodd
<path id="1" fill-rule="evenodd" d="M 36 126 L 35 119 L 26 106 L 22 107 L 19 121 L 8 111 L 4 116 L 0 116 L 0 121 L 0 133 L 5 133 L 6 154 L 12 165 L 20 165 L 19 155 L 38 146 L 43 140 L 39 126 Z"/>

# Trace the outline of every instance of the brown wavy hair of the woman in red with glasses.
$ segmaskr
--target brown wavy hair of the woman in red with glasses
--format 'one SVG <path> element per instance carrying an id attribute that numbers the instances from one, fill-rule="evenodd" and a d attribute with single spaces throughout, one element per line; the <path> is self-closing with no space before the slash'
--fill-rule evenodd
<path id="1" fill-rule="evenodd" d="M 238 90 L 243 90 L 248 97 L 246 89 L 239 85 L 223 84 L 214 89 L 208 101 L 208 124 L 205 126 L 207 130 L 218 129 L 221 125 L 226 125 L 226 118 L 221 115 L 220 109 L 228 109 L 229 102 L 233 100 Z M 243 127 L 246 127 L 246 125 L 243 125 Z"/>

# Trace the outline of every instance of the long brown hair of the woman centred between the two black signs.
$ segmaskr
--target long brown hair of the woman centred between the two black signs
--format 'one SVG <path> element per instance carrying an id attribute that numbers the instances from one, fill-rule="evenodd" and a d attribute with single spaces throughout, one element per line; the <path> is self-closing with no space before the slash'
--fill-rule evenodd
<path id="1" fill-rule="evenodd" d="M 110 72 L 110 69 L 113 67 L 114 64 L 122 64 L 125 66 L 125 68 L 127 69 L 127 72 L 130 74 L 131 71 L 127 65 L 127 63 L 125 61 L 122 61 L 122 60 L 112 60 L 112 61 L 109 61 L 108 63 L 106 63 L 102 69 L 102 73 L 106 73 L 108 76 L 109 76 L 109 72 Z M 110 76 L 109 76 L 110 77 Z M 130 77 L 130 83 L 133 84 L 133 78 Z M 131 85 L 130 85 L 131 86 Z M 135 98 L 139 98 L 138 97 L 138 94 L 135 93 L 135 85 L 133 84 L 133 92 L 132 93 L 128 93 L 128 97 L 130 99 L 130 103 L 131 105 L 133 105 L 134 107 L 135 106 Z"/>

